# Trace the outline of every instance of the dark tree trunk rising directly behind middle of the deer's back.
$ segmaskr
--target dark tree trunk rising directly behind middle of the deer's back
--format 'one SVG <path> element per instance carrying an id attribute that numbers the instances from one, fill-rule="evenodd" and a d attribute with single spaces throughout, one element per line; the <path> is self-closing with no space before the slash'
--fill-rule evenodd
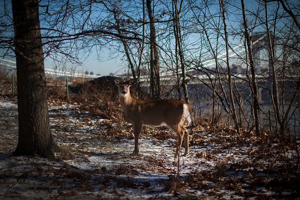
<path id="1" fill-rule="evenodd" d="M 152 99 L 160 98 L 159 58 L 156 44 L 156 29 L 151 6 L 152 0 L 146 0 L 150 20 L 150 87 Z"/>

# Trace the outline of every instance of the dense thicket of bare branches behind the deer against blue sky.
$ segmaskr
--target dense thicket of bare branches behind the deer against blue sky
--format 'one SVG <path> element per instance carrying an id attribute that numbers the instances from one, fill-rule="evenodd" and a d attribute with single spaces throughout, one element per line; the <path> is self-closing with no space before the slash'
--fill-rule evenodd
<path id="1" fill-rule="evenodd" d="M 9 1 L 1 57 L 14 53 Z M 299 2 L 285 0 L 40 0 L 45 57 L 81 62 L 109 51 L 139 98 L 189 102 L 195 120 L 281 138 L 299 134 Z M 270 110 L 270 112 L 269 112 Z M 287 134 L 288 133 L 288 134 Z"/>

